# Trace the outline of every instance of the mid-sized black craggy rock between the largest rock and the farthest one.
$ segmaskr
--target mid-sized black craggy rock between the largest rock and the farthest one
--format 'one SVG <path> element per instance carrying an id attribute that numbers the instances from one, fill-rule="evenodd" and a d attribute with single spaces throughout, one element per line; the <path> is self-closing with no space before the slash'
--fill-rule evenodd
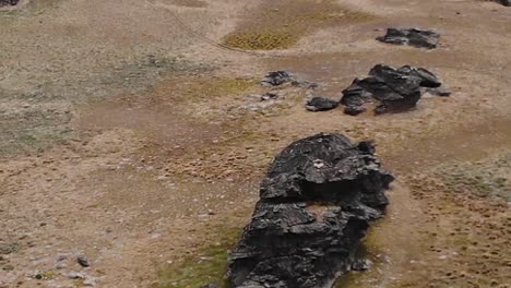
<path id="1" fill-rule="evenodd" d="M 438 88 L 440 80 L 424 68 L 404 65 L 394 69 L 378 64 L 371 69 L 369 76 L 356 79 L 352 85 L 343 91 L 341 104 L 347 106 L 345 112 L 357 115 L 366 103 L 377 100 L 376 112 L 402 111 L 413 108 L 423 95 L 421 87 Z"/>

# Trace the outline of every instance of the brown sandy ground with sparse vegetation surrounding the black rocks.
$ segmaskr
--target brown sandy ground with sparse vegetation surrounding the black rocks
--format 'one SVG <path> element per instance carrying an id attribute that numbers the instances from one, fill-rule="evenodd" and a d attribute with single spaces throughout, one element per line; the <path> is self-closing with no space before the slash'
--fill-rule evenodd
<path id="1" fill-rule="evenodd" d="M 367 239 L 373 267 L 340 287 L 508 287 L 510 23 L 510 9 L 477 0 L 2 8 L 0 287 L 190 287 L 158 271 L 240 229 L 272 157 L 318 132 L 375 140 L 399 177 Z M 296 41 L 224 45 L 272 25 Z M 441 45 L 375 40 L 393 25 L 435 28 Z M 431 69 L 454 93 L 379 117 L 304 109 L 381 62 Z M 320 87 L 278 88 L 265 106 L 247 97 L 275 69 Z"/>

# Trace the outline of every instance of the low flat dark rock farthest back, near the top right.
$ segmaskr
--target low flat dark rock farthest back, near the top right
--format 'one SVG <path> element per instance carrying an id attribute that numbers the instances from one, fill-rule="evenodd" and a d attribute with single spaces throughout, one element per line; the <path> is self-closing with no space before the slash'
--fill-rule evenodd
<path id="1" fill-rule="evenodd" d="M 437 48 L 440 34 L 420 28 L 388 28 L 385 36 L 378 37 L 379 41 L 394 45 L 409 45 L 418 48 Z"/>

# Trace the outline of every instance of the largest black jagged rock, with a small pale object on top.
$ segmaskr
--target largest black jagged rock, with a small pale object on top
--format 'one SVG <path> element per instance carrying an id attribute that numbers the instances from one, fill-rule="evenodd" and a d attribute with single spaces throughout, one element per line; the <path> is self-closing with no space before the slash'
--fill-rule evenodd
<path id="1" fill-rule="evenodd" d="M 331 287 L 350 269 L 369 221 L 383 216 L 393 179 L 370 142 L 318 134 L 289 145 L 230 254 L 231 287 Z"/>

